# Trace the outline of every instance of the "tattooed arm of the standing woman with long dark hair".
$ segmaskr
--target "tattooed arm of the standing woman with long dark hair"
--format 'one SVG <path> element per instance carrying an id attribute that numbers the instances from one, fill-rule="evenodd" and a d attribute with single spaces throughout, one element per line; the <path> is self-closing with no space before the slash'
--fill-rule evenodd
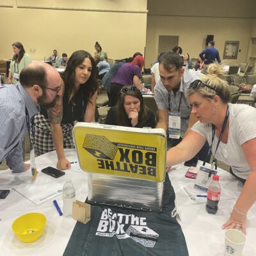
<path id="1" fill-rule="evenodd" d="M 71 168 L 71 166 L 69 161 L 65 157 L 64 148 L 63 148 L 63 133 L 60 125 L 62 120 L 62 115 L 63 115 L 62 104 L 63 104 L 63 96 L 60 96 L 60 99 L 57 100 L 54 108 L 51 108 L 48 110 L 48 116 L 51 123 L 52 141 L 54 143 L 57 157 L 58 157 L 57 168 L 59 170 L 66 170 Z"/>

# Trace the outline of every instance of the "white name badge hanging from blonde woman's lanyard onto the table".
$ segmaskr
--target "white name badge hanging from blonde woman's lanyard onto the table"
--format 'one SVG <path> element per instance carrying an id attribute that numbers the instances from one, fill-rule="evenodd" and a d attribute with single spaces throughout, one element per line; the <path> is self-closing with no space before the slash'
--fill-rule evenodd
<path id="1" fill-rule="evenodd" d="M 207 192 L 209 184 L 212 180 L 211 175 L 217 174 L 217 171 L 212 169 L 213 166 L 211 166 L 211 168 L 207 168 L 206 166 L 200 167 L 200 170 L 197 173 L 194 188 Z"/>

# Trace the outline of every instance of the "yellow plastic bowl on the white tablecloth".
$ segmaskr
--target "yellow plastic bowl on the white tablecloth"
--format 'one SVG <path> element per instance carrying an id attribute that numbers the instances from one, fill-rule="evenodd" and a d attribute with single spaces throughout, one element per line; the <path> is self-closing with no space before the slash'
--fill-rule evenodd
<path id="1" fill-rule="evenodd" d="M 12 230 L 21 241 L 31 243 L 42 235 L 45 223 L 44 214 L 31 212 L 21 215 L 13 221 Z"/>

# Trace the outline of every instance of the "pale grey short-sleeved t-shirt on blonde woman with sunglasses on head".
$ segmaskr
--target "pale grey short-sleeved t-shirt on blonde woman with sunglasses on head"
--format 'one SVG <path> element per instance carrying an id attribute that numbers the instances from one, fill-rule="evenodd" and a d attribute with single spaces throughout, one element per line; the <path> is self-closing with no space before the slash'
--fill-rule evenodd
<path id="1" fill-rule="evenodd" d="M 215 157 L 229 164 L 238 177 L 246 179 L 251 168 L 246 161 L 241 145 L 256 138 L 256 109 L 244 104 L 229 103 L 228 106 L 230 110 L 228 141 L 227 144 L 220 141 Z M 212 142 L 211 124 L 202 124 L 198 121 L 191 130 L 202 134 L 209 145 L 212 143 L 212 152 L 215 152 L 218 138 L 215 136 Z"/>

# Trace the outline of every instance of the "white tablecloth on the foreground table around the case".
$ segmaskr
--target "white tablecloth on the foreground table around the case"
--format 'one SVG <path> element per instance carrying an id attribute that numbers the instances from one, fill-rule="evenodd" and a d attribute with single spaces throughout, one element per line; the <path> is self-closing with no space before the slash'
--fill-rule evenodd
<path id="1" fill-rule="evenodd" d="M 75 150 L 65 150 L 65 155 L 70 161 L 77 159 Z M 36 164 L 38 170 L 46 166 L 55 166 L 56 152 L 49 152 L 37 157 Z M 236 200 L 221 200 L 216 215 L 207 214 L 205 204 L 191 204 L 180 188 L 180 185 L 186 186 L 193 182 L 193 180 L 184 177 L 187 169 L 188 167 L 182 165 L 180 169 L 172 170 L 169 175 L 175 189 L 176 203 L 182 216 L 182 221 L 179 218 L 178 220 L 186 237 L 189 255 L 221 256 L 224 252 L 224 230 L 221 230 L 221 225 L 228 220 L 229 212 Z M 72 218 L 59 216 L 52 200 L 41 205 L 35 205 L 12 189 L 12 186 L 20 184 L 29 175 L 29 171 L 19 174 L 13 174 L 10 170 L 0 172 L 1 189 L 11 190 L 7 198 L 0 201 L 0 255 L 62 255 L 76 221 Z M 67 170 L 66 174 L 58 179 L 41 172 L 38 173 L 37 179 L 49 179 L 49 186 L 51 186 L 51 181 L 58 182 L 62 186 L 65 180 L 72 179 L 76 188 L 76 199 L 83 202 L 88 193 L 87 174 L 79 170 L 78 164 L 72 164 L 71 170 Z M 222 189 L 234 191 L 236 197 L 242 188 L 240 182 L 223 170 L 220 170 L 220 184 Z M 58 195 L 54 199 L 62 208 L 62 196 Z M 256 207 L 253 205 L 248 212 L 247 241 L 243 250 L 243 255 L 246 256 L 256 255 L 254 244 L 256 238 L 255 210 Z M 44 234 L 34 243 L 22 243 L 12 232 L 12 223 L 15 218 L 28 212 L 42 212 L 47 218 Z"/>

